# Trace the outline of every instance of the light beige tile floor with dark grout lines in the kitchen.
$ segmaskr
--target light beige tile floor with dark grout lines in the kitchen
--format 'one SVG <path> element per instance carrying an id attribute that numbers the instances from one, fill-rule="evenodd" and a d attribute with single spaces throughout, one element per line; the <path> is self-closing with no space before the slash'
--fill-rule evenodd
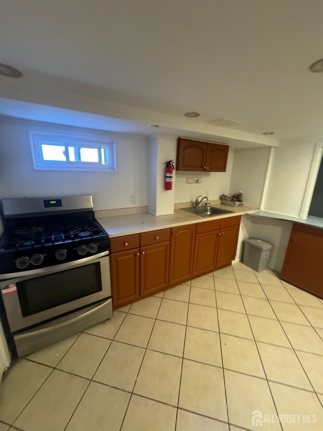
<path id="1" fill-rule="evenodd" d="M 322 340 L 323 300 L 239 263 L 20 360 L 0 431 L 321 431 Z"/>

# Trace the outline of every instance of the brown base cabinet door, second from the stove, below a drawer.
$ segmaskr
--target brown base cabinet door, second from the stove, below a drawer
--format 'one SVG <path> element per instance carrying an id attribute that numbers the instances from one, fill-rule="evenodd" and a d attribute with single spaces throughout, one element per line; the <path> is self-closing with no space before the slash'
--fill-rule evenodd
<path id="1" fill-rule="evenodd" d="M 168 287 L 170 242 L 140 248 L 140 297 Z"/>

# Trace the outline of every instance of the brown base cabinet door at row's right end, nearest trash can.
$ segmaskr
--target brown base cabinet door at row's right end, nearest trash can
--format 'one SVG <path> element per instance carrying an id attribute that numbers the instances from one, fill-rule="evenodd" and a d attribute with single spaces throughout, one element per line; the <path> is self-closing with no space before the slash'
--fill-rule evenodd
<path id="1" fill-rule="evenodd" d="M 217 268 L 231 265 L 236 257 L 238 235 L 240 226 L 231 226 L 221 229 L 219 236 L 219 249 L 217 258 Z"/>

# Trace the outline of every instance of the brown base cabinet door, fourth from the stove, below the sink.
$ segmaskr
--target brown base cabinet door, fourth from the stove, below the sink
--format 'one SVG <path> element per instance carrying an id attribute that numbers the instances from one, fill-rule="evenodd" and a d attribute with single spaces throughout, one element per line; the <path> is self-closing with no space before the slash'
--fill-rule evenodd
<path id="1" fill-rule="evenodd" d="M 220 230 L 213 230 L 196 235 L 193 277 L 207 274 L 216 269 L 219 237 Z"/>

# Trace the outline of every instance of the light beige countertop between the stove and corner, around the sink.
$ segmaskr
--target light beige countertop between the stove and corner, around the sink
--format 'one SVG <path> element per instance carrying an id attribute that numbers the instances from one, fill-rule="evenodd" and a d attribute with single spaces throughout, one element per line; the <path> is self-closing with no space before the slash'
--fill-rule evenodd
<path id="1" fill-rule="evenodd" d="M 255 208 L 241 206 L 231 207 L 228 205 L 214 205 L 214 207 L 233 211 L 230 214 L 220 214 L 212 217 L 200 217 L 195 214 L 188 213 L 181 209 L 174 211 L 174 214 L 154 216 L 149 213 L 136 213 L 114 216 L 97 216 L 96 220 L 100 223 L 103 229 L 109 233 L 111 238 L 123 235 L 129 235 L 139 232 L 148 232 L 156 229 L 166 229 L 185 224 L 203 223 L 208 220 L 219 218 L 233 217 L 243 215 L 250 211 L 255 211 Z"/>

